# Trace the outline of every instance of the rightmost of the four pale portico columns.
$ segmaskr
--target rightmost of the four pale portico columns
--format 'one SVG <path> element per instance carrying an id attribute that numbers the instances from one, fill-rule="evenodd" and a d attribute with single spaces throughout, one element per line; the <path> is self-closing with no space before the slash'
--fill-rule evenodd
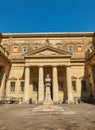
<path id="1" fill-rule="evenodd" d="M 68 103 L 73 103 L 73 94 L 72 94 L 72 84 L 71 84 L 71 68 L 67 67 L 67 95 L 68 95 Z"/>

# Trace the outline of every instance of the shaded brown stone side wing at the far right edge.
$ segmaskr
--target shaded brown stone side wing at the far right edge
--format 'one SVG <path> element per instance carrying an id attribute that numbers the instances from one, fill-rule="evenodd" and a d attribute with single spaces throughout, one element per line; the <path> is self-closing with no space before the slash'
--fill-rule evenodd
<path id="1" fill-rule="evenodd" d="M 87 71 L 87 83 L 89 85 L 88 98 L 91 102 L 95 102 L 95 46 L 90 48 L 86 53 L 86 71 Z"/>

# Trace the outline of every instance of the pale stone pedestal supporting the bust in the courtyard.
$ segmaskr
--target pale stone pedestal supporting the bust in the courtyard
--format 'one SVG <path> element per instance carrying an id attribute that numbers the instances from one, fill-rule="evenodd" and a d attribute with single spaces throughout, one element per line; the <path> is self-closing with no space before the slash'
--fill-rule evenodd
<path id="1" fill-rule="evenodd" d="M 47 105 L 53 104 L 51 99 L 51 91 L 50 91 L 51 83 L 46 83 L 45 87 L 46 87 L 46 93 L 45 93 L 45 100 L 43 104 L 47 104 Z"/>

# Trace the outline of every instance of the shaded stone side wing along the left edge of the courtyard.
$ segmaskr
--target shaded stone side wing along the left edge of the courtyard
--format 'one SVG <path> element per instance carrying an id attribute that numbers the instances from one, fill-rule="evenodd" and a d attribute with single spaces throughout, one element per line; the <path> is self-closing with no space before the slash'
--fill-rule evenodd
<path id="1" fill-rule="evenodd" d="M 0 41 L 2 35 L 0 34 Z M 6 95 L 6 82 L 9 76 L 11 62 L 8 59 L 8 52 L 0 45 L 0 100 Z"/>

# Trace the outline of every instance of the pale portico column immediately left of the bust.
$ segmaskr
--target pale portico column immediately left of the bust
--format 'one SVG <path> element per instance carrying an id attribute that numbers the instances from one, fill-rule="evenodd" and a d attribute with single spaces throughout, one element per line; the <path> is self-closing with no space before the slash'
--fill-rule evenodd
<path id="1" fill-rule="evenodd" d="M 42 103 L 44 100 L 44 73 L 43 67 L 39 67 L 39 77 L 38 77 L 38 102 Z"/>

